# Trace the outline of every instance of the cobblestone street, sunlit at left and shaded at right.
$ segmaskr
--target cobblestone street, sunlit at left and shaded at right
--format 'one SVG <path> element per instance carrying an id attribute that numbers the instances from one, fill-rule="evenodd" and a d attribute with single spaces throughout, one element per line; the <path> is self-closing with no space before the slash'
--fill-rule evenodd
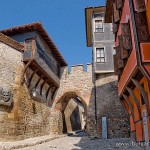
<path id="1" fill-rule="evenodd" d="M 134 146 L 133 146 L 134 145 Z M 55 139 L 21 150 L 143 150 L 130 139 L 90 139 L 84 133 Z"/>

